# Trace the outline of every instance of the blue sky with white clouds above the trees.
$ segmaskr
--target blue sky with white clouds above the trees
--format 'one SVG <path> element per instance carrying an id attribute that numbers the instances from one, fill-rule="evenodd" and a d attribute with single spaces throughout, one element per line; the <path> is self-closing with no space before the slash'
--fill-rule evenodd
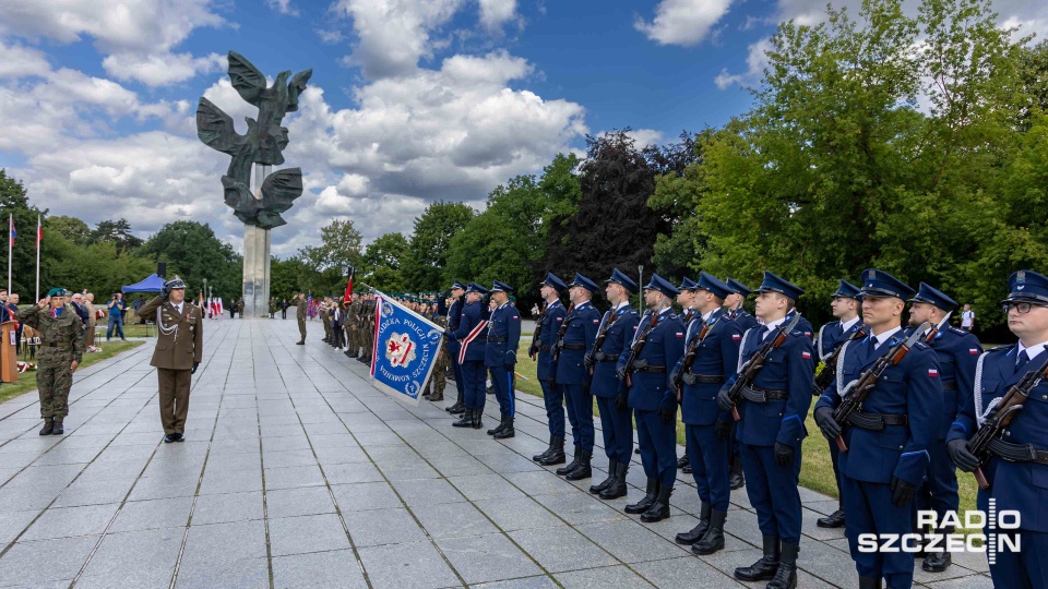
<path id="1" fill-rule="evenodd" d="M 724 124 L 749 109 L 777 24 L 821 22 L 825 4 L 0 0 L 0 168 L 50 215 L 123 217 L 142 238 L 191 219 L 240 251 L 219 182 L 229 158 L 196 139 L 194 118 L 201 96 L 241 132 L 255 116 L 226 75 L 235 50 L 271 81 L 313 70 L 284 119 L 284 166 L 306 190 L 273 253 L 319 244 L 333 219 L 367 243 L 409 235 L 436 201 L 481 209 L 587 134 L 629 127 L 643 146 Z M 1048 33 L 1048 2 L 993 7 L 1002 26 Z"/>

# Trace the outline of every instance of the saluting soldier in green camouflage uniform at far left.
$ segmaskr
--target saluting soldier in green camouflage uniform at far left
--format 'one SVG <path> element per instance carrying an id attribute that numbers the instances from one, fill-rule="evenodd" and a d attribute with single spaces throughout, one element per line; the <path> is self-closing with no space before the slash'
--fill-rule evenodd
<path id="1" fill-rule="evenodd" d="M 52 288 L 46 299 L 19 311 L 19 321 L 39 332 L 36 356 L 36 387 L 40 394 L 40 435 L 66 433 L 62 421 L 69 414 L 69 388 L 73 372 L 84 356 L 84 323 L 66 304 L 66 289 Z"/>

